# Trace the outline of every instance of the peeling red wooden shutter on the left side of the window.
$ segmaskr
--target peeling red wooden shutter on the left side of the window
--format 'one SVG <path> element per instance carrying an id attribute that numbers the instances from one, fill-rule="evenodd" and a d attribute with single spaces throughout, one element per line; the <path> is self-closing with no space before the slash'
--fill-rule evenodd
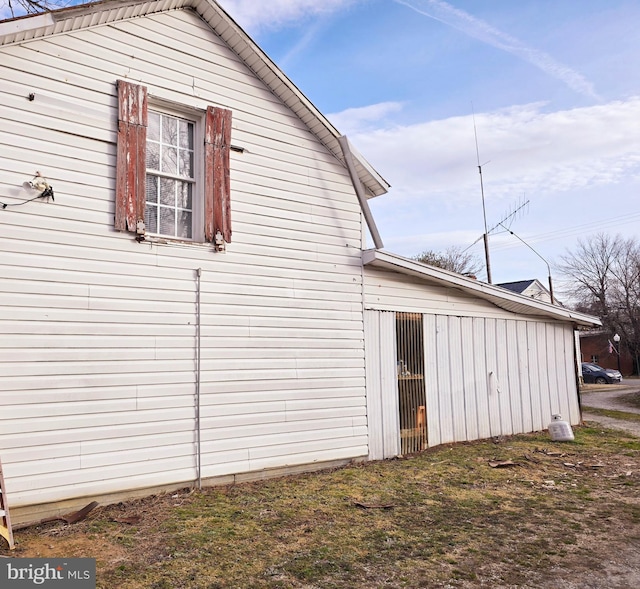
<path id="1" fill-rule="evenodd" d="M 116 222 L 119 231 L 144 233 L 147 89 L 118 80 Z"/>

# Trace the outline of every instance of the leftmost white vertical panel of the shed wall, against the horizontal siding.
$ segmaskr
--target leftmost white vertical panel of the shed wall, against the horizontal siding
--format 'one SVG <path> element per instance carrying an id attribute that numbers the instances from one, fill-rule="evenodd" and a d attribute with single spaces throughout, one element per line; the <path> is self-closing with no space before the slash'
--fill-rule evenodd
<path id="1" fill-rule="evenodd" d="M 364 313 L 364 349 L 367 379 L 367 432 L 369 436 L 369 460 L 382 460 L 382 390 L 380 314 L 376 311 Z"/>

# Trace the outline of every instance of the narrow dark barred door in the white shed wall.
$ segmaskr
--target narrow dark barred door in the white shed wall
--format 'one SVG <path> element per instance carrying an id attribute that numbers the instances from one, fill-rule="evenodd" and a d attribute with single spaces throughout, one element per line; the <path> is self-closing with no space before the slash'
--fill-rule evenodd
<path id="1" fill-rule="evenodd" d="M 396 313 L 396 350 L 400 450 L 402 454 L 411 454 L 427 447 L 421 313 Z"/>

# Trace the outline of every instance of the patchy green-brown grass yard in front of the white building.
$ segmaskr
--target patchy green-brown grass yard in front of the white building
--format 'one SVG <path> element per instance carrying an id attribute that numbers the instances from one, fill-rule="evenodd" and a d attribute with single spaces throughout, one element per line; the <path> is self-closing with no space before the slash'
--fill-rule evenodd
<path id="1" fill-rule="evenodd" d="M 95 557 L 104 589 L 551 587 L 638 558 L 639 487 L 640 439 L 582 427 L 107 506 L 14 554 Z"/>

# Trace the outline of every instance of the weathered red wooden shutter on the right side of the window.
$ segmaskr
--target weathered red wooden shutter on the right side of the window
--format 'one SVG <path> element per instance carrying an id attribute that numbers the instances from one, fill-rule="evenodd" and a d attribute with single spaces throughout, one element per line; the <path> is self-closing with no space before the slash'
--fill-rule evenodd
<path id="1" fill-rule="evenodd" d="M 229 185 L 229 147 L 231 111 L 207 108 L 204 134 L 204 237 L 214 242 L 218 231 L 231 242 L 231 191 Z"/>

